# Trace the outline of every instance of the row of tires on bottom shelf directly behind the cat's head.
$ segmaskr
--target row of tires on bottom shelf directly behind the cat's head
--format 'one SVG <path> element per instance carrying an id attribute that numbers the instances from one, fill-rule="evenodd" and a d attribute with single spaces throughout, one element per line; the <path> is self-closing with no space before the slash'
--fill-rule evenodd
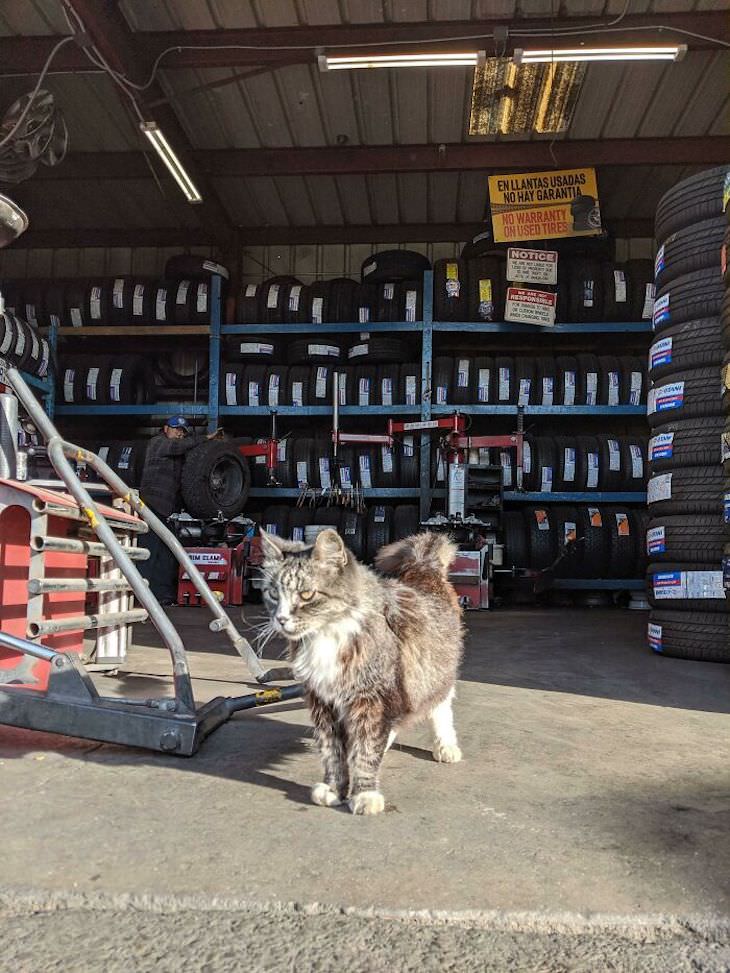
<path id="1" fill-rule="evenodd" d="M 347 507 L 288 507 L 275 504 L 261 514 L 261 526 L 270 534 L 294 541 L 307 540 L 307 528 L 332 527 L 361 561 L 372 561 L 378 550 L 419 530 L 418 507 L 398 504 L 374 506 L 361 514 Z"/>

